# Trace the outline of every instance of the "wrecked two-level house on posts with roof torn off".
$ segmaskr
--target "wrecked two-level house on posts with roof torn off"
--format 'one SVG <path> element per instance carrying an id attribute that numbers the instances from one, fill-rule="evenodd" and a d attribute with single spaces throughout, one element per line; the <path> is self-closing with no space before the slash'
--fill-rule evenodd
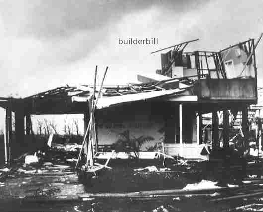
<path id="1" fill-rule="evenodd" d="M 191 42 L 162 49 L 169 50 L 161 54 L 162 69 L 138 75 L 139 83 L 103 87 L 95 112 L 97 153 L 111 151 L 116 147 L 112 144 L 125 137 L 147 140 L 140 151 L 163 143 L 170 156 L 200 159 L 206 158 L 201 151 L 208 140 L 212 149 L 229 145 L 230 127 L 240 124 L 247 136 L 253 114 L 249 108 L 257 103 L 257 44 L 249 39 L 218 52 L 185 52 Z M 22 99 L 1 98 L 0 106 L 6 110 L 6 152 L 15 144 L 30 145 L 24 134 L 31 134 L 32 114 L 83 114 L 87 128 L 92 91 L 88 85 L 66 86 Z M 223 114 L 220 130 L 219 111 Z M 15 140 L 10 135 L 11 112 L 15 113 Z M 212 115 L 207 121 L 204 114 L 208 113 Z M 240 123 L 238 115 L 242 115 Z"/>

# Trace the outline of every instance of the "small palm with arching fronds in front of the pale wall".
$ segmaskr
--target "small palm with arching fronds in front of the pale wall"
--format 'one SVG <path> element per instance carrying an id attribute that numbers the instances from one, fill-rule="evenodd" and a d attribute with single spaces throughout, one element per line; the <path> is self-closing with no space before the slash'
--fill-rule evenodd
<path id="1" fill-rule="evenodd" d="M 135 157 L 139 158 L 139 151 L 142 147 L 142 145 L 146 142 L 154 140 L 151 136 L 140 136 L 138 138 L 131 136 L 130 131 L 126 130 L 119 134 L 119 139 L 116 141 L 116 143 L 113 144 L 113 148 L 116 151 L 124 151 L 131 155 L 131 152 L 134 152 Z"/>

